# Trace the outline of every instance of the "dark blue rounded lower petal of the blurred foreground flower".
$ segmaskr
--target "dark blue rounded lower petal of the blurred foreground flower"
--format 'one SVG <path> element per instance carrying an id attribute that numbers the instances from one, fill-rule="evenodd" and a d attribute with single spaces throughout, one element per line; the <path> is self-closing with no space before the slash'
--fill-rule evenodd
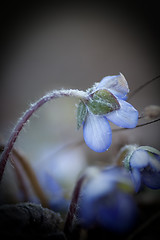
<path id="1" fill-rule="evenodd" d="M 97 220 L 101 226 L 114 232 L 129 230 L 136 219 L 136 205 L 131 196 L 121 192 L 114 192 L 106 196 L 98 208 Z"/>

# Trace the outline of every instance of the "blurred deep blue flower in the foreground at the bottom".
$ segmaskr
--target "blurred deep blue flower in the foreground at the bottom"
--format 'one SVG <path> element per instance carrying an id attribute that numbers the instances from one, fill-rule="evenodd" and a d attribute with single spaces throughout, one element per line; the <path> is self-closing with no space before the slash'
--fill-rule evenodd
<path id="1" fill-rule="evenodd" d="M 125 232 L 135 223 L 133 186 L 125 169 L 109 168 L 86 183 L 79 201 L 79 217 L 87 228 Z"/>

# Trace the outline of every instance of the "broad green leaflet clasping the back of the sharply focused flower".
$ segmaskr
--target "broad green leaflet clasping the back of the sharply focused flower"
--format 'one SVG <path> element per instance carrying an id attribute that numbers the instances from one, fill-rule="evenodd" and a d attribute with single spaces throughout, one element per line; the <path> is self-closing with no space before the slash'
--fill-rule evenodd
<path id="1" fill-rule="evenodd" d="M 106 89 L 96 91 L 93 98 L 87 102 L 87 106 L 96 115 L 107 114 L 120 108 L 117 99 Z"/>

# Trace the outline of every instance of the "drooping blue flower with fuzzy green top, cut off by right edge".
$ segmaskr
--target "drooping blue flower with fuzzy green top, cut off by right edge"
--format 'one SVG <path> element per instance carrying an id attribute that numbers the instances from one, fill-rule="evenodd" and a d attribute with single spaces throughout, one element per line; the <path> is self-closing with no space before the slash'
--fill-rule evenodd
<path id="1" fill-rule="evenodd" d="M 124 148 L 124 166 L 129 170 L 135 190 L 142 185 L 160 188 L 160 151 L 153 147 L 128 145 Z"/>

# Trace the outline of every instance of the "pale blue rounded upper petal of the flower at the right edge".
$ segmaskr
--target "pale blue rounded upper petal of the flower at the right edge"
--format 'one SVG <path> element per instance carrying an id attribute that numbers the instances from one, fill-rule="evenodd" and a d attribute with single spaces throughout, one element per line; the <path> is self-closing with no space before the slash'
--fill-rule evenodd
<path id="1" fill-rule="evenodd" d="M 131 168 L 145 168 L 149 164 L 149 154 L 145 150 L 136 150 L 130 158 Z"/>

